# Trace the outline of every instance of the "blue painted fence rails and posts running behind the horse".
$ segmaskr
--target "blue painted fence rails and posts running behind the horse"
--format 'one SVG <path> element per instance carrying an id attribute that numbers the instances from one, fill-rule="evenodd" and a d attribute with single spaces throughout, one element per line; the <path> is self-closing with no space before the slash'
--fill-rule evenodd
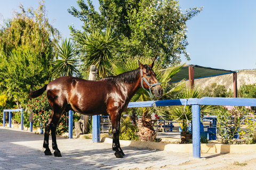
<path id="1" fill-rule="evenodd" d="M 159 106 L 182 106 L 190 105 L 192 106 L 192 121 L 193 121 L 193 157 L 201 157 L 201 146 L 200 146 L 200 105 L 219 105 L 219 106 L 254 106 L 256 107 L 256 99 L 252 98 L 211 98 L 204 97 L 189 98 L 189 99 L 175 99 L 175 100 L 157 100 L 157 101 L 138 101 L 131 102 L 128 108 L 132 107 L 153 107 L 153 104 Z M 4 110 L 4 120 L 3 124 L 5 126 L 5 112 L 15 112 L 20 111 L 20 109 L 5 109 Z M 21 114 L 23 109 L 21 111 Z M 10 122 L 10 121 L 9 121 Z M 21 129 L 23 130 L 23 114 L 21 116 Z M 93 121 L 93 137 L 98 141 L 100 135 L 100 119 L 95 117 Z M 10 126 L 10 123 L 9 123 Z M 69 111 L 69 138 L 72 138 L 73 134 L 73 112 Z"/>

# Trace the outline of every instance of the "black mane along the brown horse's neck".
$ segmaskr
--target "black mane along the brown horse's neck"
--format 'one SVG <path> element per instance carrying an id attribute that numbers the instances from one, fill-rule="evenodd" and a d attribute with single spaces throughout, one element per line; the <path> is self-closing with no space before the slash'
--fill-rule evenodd
<path id="1" fill-rule="evenodd" d="M 149 65 L 145 64 L 143 66 L 146 67 L 147 72 L 149 70 L 152 70 Z M 116 76 L 109 76 L 109 77 L 103 78 L 101 80 L 106 80 L 108 82 L 113 82 L 113 83 L 118 83 L 118 84 L 119 83 L 133 83 L 138 79 L 138 74 L 140 75 L 140 67 L 138 69 L 124 72 L 124 73 L 118 74 Z"/>

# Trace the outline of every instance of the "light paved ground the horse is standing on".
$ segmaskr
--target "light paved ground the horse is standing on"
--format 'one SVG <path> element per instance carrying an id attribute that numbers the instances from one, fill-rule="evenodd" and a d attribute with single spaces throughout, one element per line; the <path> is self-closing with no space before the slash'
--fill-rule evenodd
<path id="1" fill-rule="evenodd" d="M 256 152 L 202 154 L 123 147 L 126 156 L 115 158 L 111 145 L 90 139 L 57 139 L 62 157 L 45 156 L 43 135 L 0 127 L 0 169 L 255 169 Z M 234 165 L 238 162 L 238 165 Z M 246 162 L 247 165 L 242 163 Z"/>

